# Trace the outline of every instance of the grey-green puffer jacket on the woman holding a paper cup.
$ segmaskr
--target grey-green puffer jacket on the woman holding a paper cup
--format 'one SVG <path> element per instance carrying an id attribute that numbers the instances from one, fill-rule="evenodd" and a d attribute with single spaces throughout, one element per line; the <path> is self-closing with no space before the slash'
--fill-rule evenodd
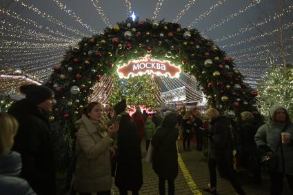
<path id="1" fill-rule="evenodd" d="M 274 152 L 278 158 L 278 167 L 276 167 L 276 172 L 282 172 L 283 170 L 283 163 L 282 163 L 282 156 L 281 156 L 281 147 L 276 152 L 276 148 L 278 144 L 281 142 L 281 132 L 285 127 L 285 123 L 279 123 L 275 121 L 269 121 L 259 127 L 257 130 L 254 140 L 256 145 L 263 149 L 264 152 Z M 284 154 L 284 173 L 293 175 L 293 125 L 290 123 L 285 132 L 290 133 L 291 135 L 291 143 L 281 143 L 283 147 L 283 154 Z"/>

